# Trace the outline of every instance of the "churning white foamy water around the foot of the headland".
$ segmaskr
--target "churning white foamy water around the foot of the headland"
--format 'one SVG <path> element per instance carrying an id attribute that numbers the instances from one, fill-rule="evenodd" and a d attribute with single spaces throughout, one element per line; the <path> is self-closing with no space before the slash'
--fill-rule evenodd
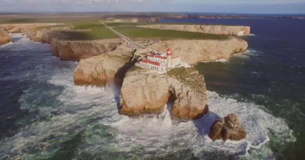
<path id="1" fill-rule="evenodd" d="M 30 113 L 18 121 L 22 128 L 14 136 L 0 141 L 0 159 L 261 159 L 274 158 L 266 144 L 270 136 L 282 144 L 295 140 L 285 121 L 264 106 L 212 91 L 210 112 L 200 119 L 173 123 L 167 109 L 159 118 L 132 119 L 118 114 L 111 87 L 76 86 L 76 63 L 47 58 L 51 62 L 35 68 L 39 73 L 19 100 Z M 207 134 L 214 120 L 232 112 L 246 139 L 212 141 Z"/>

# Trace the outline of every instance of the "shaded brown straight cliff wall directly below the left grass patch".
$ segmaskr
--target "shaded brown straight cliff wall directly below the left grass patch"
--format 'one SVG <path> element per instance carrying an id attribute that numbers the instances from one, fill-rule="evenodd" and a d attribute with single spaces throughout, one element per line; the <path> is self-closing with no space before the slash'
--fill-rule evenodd
<path id="1" fill-rule="evenodd" d="M 104 39 L 104 40 L 58 40 L 52 44 L 57 44 L 58 55 L 62 60 L 79 61 L 91 56 L 104 54 L 114 50 L 121 44 L 120 39 Z M 52 46 L 52 50 L 56 50 Z"/>

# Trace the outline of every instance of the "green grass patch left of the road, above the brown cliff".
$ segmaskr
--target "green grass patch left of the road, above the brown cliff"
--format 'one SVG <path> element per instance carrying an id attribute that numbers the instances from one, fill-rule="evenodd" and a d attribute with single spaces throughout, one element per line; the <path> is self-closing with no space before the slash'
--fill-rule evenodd
<path id="1" fill-rule="evenodd" d="M 108 28 L 94 29 L 91 31 L 63 31 L 70 40 L 95 40 L 107 38 L 119 38 L 118 35 L 113 33 Z"/>

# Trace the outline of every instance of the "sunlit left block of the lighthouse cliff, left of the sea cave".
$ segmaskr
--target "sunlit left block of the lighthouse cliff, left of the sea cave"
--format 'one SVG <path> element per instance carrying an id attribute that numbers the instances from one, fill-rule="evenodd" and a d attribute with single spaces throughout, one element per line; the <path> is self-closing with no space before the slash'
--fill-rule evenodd
<path id="1" fill-rule="evenodd" d="M 132 67 L 123 81 L 120 114 L 161 113 L 170 97 L 166 75 Z"/>

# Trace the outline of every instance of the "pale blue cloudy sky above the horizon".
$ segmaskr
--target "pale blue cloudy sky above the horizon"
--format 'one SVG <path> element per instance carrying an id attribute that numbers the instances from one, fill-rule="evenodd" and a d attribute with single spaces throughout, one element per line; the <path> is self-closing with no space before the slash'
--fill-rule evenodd
<path id="1" fill-rule="evenodd" d="M 0 0 L 0 12 L 59 11 L 304 14 L 305 0 Z"/>

